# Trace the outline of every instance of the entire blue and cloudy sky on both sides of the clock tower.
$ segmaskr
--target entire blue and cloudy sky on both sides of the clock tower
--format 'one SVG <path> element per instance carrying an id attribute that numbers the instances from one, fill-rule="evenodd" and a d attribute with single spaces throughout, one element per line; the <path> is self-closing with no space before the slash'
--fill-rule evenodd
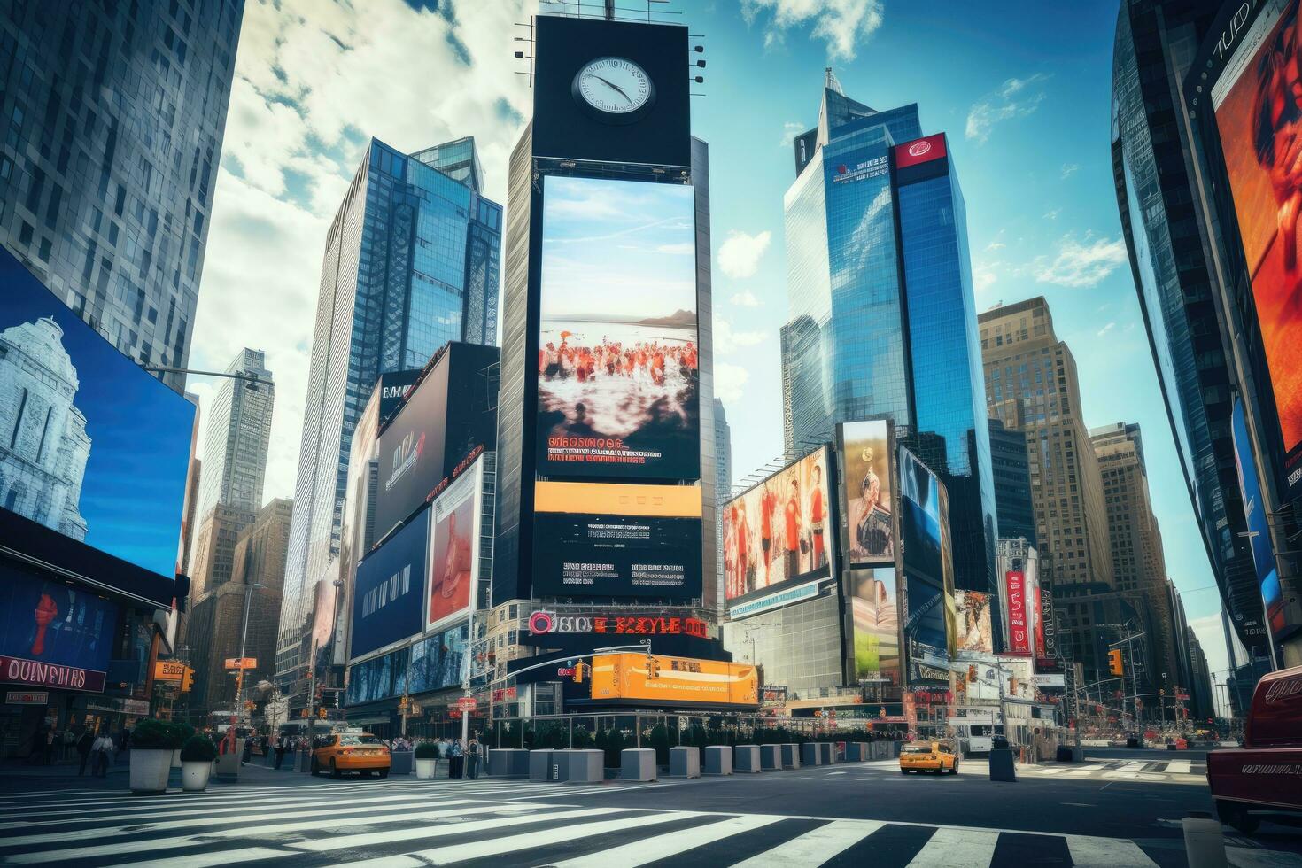
<path id="1" fill-rule="evenodd" d="M 552 4 L 544 3 L 544 10 Z M 620 0 L 635 8 L 642 0 Z M 555 8 L 555 7 L 552 7 Z M 672 0 L 707 62 L 693 133 L 710 144 L 716 393 L 733 481 L 780 455 L 790 139 L 825 66 L 878 109 L 918 103 L 967 206 L 976 310 L 1044 295 L 1075 354 L 1091 427 L 1143 431 L 1167 567 L 1211 669 L 1220 597 L 1180 474 L 1117 216 L 1109 91 L 1117 1 Z M 530 115 L 517 27 L 538 0 L 247 0 L 191 367 L 267 350 L 276 411 L 266 497 L 292 497 L 322 251 L 368 137 L 405 151 L 474 135 L 486 193 Z M 191 380 L 207 401 L 215 381 Z"/>

